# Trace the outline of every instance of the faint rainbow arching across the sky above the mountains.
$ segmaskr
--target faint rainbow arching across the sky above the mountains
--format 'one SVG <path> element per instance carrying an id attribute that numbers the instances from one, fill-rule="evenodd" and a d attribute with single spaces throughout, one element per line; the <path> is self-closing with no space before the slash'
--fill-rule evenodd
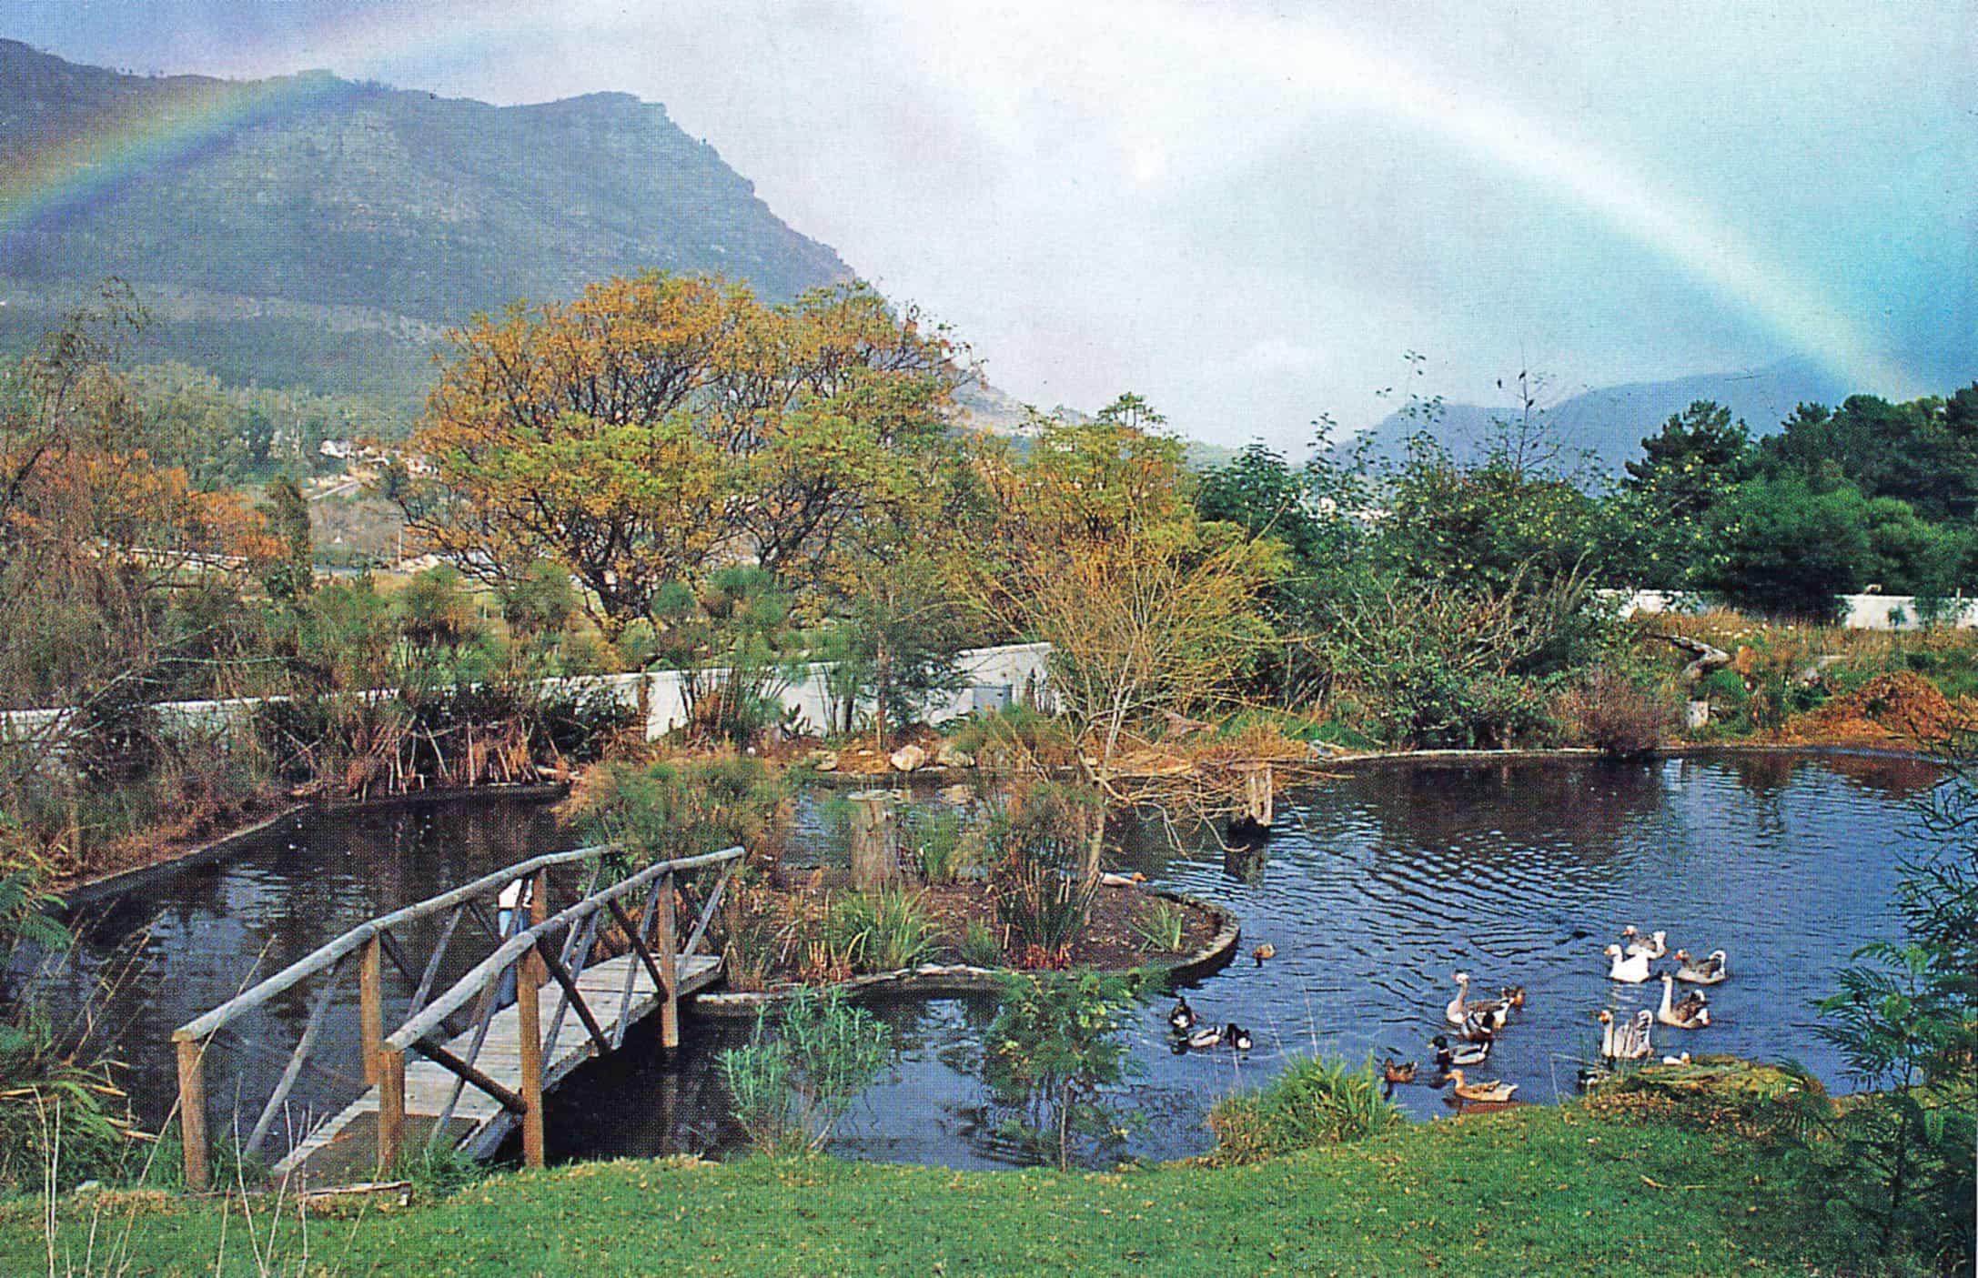
<path id="1" fill-rule="evenodd" d="M 926 26 L 928 38 L 955 40 L 947 6 L 924 6 L 918 0 L 880 4 L 890 6 L 900 28 L 932 24 Z M 584 8 L 568 0 L 556 6 L 489 0 L 465 30 L 435 38 L 433 28 L 443 18 L 429 12 L 429 6 L 415 4 L 394 18 L 316 30 L 311 44 L 315 55 L 330 51 L 332 57 L 372 71 L 384 71 L 392 61 L 380 59 L 378 49 L 421 47 L 431 55 L 439 47 L 457 47 L 461 57 L 493 57 L 493 47 L 502 40 L 518 46 L 542 42 L 558 14 L 568 18 Z M 615 4 L 601 8 L 615 18 Z M 1923 394 L 1921 380 L 1861 330 L 1816 285 L 1812 271 L 1770 261 L 1703 204 L 1650 180 L 1620 156 L 1571 137 L 1557 123 L 1493 101 L 1474 87 L 1458 87 L 1432 67 L 1369 47 L 1309 16 L 1262 20 L 1234 6 L 1155 6 L 1149 12 L 1145 0 L 1096 2 L 1070 12 L 1038 4 L 1036 10 L 1040 30 L 1060 32 L 1060 47 L 1068 44 L 1062 28 L 1072 22 L 1086 24 L 1080 40 L 1092 42 L 1092 47 L 1108 47 L 1131 32 L 1159 42 L 1157 55 L 1177 65 L 1209 63 L 1242 69 L 1258 83 L 1282 83 L 1294 95 L 1294 107 L 1302 103 L 1323 109 L 1331 103 L 1335 109 L 1398 121 L 1468 154 L 1480 166 L 1515 172 L 1533 186 L 1567 198 L 1849 384 L 1887 396 Z M 1165 22 L 1153 22 L 1155 12 Z M 589 34 L 599 38 L 609 18 L 593 22 Z M 1161 67 L 1143 71 L 1157 77 Z M 178 83 L 162 81 L 166 87 Z M 32 156 L 22 170 L 0 176 L 0 243 L 113 202 L 129 182 L 222 144 L 253 123 L 326 93 L 356 91 L 356 85 L 326 75 L 184 83 L 190 87 L 146 95 L 129 117 L 89 137 L 61 140 Z"/>

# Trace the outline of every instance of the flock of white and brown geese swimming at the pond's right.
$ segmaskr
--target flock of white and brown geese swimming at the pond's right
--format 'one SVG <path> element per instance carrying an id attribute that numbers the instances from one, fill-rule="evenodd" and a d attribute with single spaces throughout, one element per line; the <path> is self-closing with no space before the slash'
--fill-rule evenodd
<path id="1" fill-rule="evenodd" d="M 1673 958 L 1675 969 L 1663 969 L 1662 977 L 1662 1007 L 1650 1011 L 1648 1007 L 1634 1013 L 1628 1023 L 1616 1025 L 1614 1013 L 1600 1009 L 1596 1019 L 1600 1021 L 1600 1064 L 1580 1070 L 1582 1084 L 1594 1084 L 1606 1078 L 1614 1062 L 1622 1060 L 1646 1060 L 1656 1052 L 1652 1043 L 1652 1033 L 1656 1023 L 1671 1025 L 1675 1029 L 1703 1029 L 1711 1023 L 1709 995 L 1701 989 L 1691 989 L 1681 999 L 1675 997 L 1675 983 L 1683 981 L 1689 985 L 1717 985 L 1729 975 L 1727 956 L 1723 950 L 1713 950 L 1703 961 L 1691 959 L 1687 950 L 1675 950 L 1673 956 L 1667 948 L 1667 932 L 1650 932 L 1644 936 L 1638 928 L 1622 928 L 1620 940 L 1606 948 L 1608 979 L 1622 981 L 1628 985 L 1640 985 L 1656 977 L 1652 969 L 1662 958 Z M 1436 1035 L 1428 1041 L 1428 1049 L 1434 1052 L 1438 1076 L 1434 1086 L 1450 1086 L 1456 1094 L 1458 1104 L 1470 1102 L 1509 1102 L 1517 1092 L 1515 1082 L 1470 1082 L 1464 1070 L 1478 1068 L 1489 1060 L 1489 1049 L 1503 1033 L 1505 1025 L 1511 1023 L 1511 1013 L 1525 1005 L 1523 985 L 1513 985 L 1499 989 L 1493 999 L 1472 999 L 1470 997 L 1470 973 L 1458 971 L 1456 997 L 1444 1007 L 1444 1019 L 1450 1023 L 1452 1033 Z M 1454 1037 L 1454 1041 L 1452 1041 Z M 1663 1056 L 1663 1064 L 1685 1064 L 1689 1052 L 1679 1056 Z M 1394 1086 L 1414 1082 L 1416 1062 L 1385 1060 L 1381 1074 L 1393 1092 Z"/>

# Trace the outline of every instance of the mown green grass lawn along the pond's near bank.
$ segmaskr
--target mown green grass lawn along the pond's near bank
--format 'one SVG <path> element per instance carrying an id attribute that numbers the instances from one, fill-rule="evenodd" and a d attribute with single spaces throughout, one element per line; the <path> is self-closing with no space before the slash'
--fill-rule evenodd
<path id="1" fill-rule="evenodd" d="M 957 1173 L 837 1159 L 584 1163 L 311 1219 L 57 1203 L 55 1274 L 1804 1274 L 1832 1234 L 1733 1136 L 1578 1106 L 1418 1124 L 1236 1169 Z M 1654 1183 L 1650 1183 L 1654 1181 Z M 93 1242 L 91 1242 L 93 1236 Z M 83 1262 L 93 1246 L 93 1260 Z M 222 1254 L 224 1250 L 224 1254 Z M 216 1258 L 220 1260 L 216 1264 Z M 49 1272 L 42 1205 L 0 1272 Z"/>

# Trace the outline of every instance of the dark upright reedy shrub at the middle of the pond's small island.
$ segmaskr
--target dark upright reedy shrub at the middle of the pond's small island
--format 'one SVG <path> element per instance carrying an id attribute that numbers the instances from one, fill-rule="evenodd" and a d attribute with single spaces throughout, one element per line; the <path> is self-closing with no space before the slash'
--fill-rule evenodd
<path id="1" fill-rule="evenodd" d="M 1038 785 L 989 819 L 997 922 L 1025 967 L 1062 967 L 1092 918 L 1098 876 L 1088 872 L 1088 831 L 1098 817 L 1086 795 Z"/>

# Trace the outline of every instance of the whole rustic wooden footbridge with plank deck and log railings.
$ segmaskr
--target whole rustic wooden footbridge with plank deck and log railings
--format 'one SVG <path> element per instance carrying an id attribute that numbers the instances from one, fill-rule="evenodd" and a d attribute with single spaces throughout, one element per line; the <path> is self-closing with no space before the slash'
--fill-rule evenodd
<path id="1" fill-rule="evenodd" d="M 516 1126 L 522 1128 L 522 1157 L 540 1167 L 544 1094 L 584 1060 L 617 1050 L 625 1031 L 653 1011 L 661 1017 L 661 1043 L 678 1047 L 680 999 L 720 977 L 720 959 L 700 948 L 742 849 L 663 861 L 597 888 L 617 851 L 585 847 L 534 857 L 364 922 L 172 1031 L 186 1185 L 200 1191 L 212 1181 L 206 1056 L 214 1037 L 277 995 L 313 987 L 295 1049 L 251 1132 L 241 1138 L 239 1153 L 251 1159 L 287 1116 L 303 1068 L 324 1068 L 316 1060 L 322 1025 L 352 967 L 360 1021 L 356 1054 L 370 1086 L 326 1122 L 305 1126 L 275 1173 L 362 1179 L 390 1167 L 407 1140 L 487 1157 Z M 550 912 L 556 890 L 550 870 L 566 870 L 566 876 L 574 870 L 587 880 L 568 892 L 572 904 L 556 914 Z M 682 944 L 676 902 L 688 876 L 712 880 L 712 886 L 700 884 L 702 904 Z M 637 920 L 629 902 L 641 902 Z M 487 954 L 453 985 L 433 993 L 449 965 L 449 950 L 457 967 L 459 952 L 469 948 L 455 944 L 463 920 L 473 920 L 467 934 Z M 435 926 L 439 932 L 431 938 Z M 431 942 L 423 961 L 407 952 L 415 936 Z M 396 1013 L 388 1009 L 388 961 L 411 985 Z M 552 983 L 558 999 L 544 1025 L 542 993 Z"/>

